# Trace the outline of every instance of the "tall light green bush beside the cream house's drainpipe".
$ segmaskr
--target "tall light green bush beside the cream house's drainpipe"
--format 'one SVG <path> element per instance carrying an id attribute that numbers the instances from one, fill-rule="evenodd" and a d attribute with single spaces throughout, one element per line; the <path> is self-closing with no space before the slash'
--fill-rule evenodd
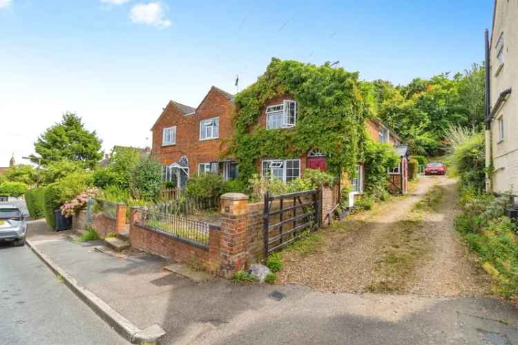
<path id="1" fill-rule="evenodd" d="M 452 161 L 459 174 L 459 188 L 486 188 L 486 138 L 475 133 L 454 148 Z"/>

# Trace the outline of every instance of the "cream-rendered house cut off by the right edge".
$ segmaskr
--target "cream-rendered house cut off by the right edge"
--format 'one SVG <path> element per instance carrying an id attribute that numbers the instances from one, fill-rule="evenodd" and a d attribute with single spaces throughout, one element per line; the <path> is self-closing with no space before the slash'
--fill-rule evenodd
<path id="1" fill-rule="evenodd" d="M 518 4 L 495 0 L 486 30 L 486 189 L 518 197 Z M 515 92 L 513 92 L 515 91 Z"/>

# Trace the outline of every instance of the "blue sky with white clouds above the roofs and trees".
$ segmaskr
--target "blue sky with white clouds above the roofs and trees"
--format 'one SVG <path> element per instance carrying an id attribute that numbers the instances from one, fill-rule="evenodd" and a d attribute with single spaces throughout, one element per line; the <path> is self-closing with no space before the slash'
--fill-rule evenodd
<path id="1" fill-rule="evenodd" d="M 483 61 L 492 0 L 0 0 L 0 166 L 76 112 L 109 152 L 170 99 L 235 93 L 272 57 L 408 83 Z M 25 161 L 26 162 L 26 161 Z"/>

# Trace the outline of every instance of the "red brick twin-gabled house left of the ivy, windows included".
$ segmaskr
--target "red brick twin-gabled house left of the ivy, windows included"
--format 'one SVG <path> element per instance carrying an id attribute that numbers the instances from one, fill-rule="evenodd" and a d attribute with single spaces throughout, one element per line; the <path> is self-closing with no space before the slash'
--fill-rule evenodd
<path id="1" fill-rule="evenodd" d="M 189 176 L 218 172 L 235 179 L 238 164 L 224 151 L 233 135 L 233 95 L 212 86 L 197 108 L 169 101 L 151 128 L 153 157 L 164 167 L 164 179 L 184 188 Z"/>

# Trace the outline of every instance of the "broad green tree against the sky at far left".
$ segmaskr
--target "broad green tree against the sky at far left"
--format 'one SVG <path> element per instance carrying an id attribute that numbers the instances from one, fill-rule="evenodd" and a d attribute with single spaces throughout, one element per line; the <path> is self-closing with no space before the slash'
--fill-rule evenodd
<path id="1" fill-rule="evenodd" d="M 93 168 L 102 158 L 100 150 L 101 141 L 95 131 L 86 130 L 81 118 L 71 112 L 66 112 L 61 122 L 47 128 L 35 142 L 35 151 L 43 166 L 68 159 Z M 38 163 L 37 157 L 32 157 L 32 161 Z"/>

